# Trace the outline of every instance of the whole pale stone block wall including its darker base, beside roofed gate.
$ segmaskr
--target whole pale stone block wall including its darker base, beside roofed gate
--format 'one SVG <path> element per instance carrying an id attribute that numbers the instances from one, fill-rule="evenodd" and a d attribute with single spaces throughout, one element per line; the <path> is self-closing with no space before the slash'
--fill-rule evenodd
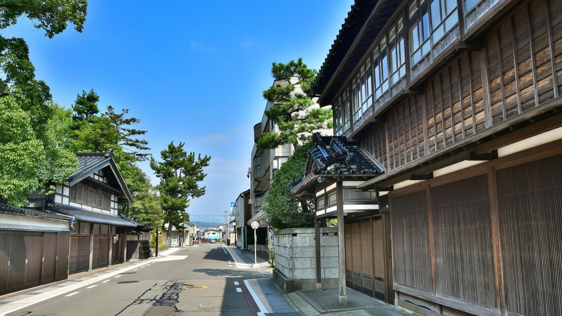
<path id="1" fill-rule="evenodd" d="M 320 228 L 322 287 L 338 286 L 336 227 Z M 274 281 L 285 292 L 316 288 L 314 228 L 287 228 L 275 232 Z"/>

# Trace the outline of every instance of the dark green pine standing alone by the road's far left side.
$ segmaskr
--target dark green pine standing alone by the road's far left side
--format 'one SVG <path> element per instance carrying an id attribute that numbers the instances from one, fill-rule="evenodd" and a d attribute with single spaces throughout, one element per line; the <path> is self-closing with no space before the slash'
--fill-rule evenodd
<path id="1" fill-rule="evenodd" d="M 211 160 L 210 156 L 201 157 L 201 154 L 196 158 L 193 151 L 188 154 L 184 145 L 182 142 L 178 145 L 171 142 L 160 152 L 162 161 L 153 158 L 150 161 L 152 170 L 160 178 L 157 188 L 160 190 L 164 221 L 168 224 L 169 240 L 172 226 L 182 229 L 182 223 L 189 220 L 189 214 L 185 213 L 189 201 L 205 194 L 205 187 L 200 187 L 199 183 L 207 176 L 203 168 L 209 166 Z"/>

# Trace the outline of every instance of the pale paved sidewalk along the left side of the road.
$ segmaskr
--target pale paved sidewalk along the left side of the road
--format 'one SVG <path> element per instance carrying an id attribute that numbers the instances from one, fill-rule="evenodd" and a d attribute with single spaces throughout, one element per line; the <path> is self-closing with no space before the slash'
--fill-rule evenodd
<path id="1" fill-rule="evenodd" d="M 74 291 L 78 288 L 88 286 L 103 279 L 116 276 L 117 274 L 136 269 L 145 264 L 182 259 L 184 256 L 170 256 L 181 249 L 182 248 L 170 248 L 162 252 L 159 251 L 158 257 L 152 257 L 139 261 L 129 261 L 127 263 L 112 265 L 111 267 L 96 269 L 91 272 L 71 274 L 68 279 L 63 281 L 27 288 L 26 290 L 0 296 L 0 316 L 11 313 L 17 309 L 25 308 L 26 306 L 51 299 L 52 297 Z"/>

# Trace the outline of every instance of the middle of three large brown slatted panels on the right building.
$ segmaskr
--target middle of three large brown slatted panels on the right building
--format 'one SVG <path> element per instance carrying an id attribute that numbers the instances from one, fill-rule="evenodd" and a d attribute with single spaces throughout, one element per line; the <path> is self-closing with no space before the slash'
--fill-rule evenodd
<path id="1" fill-rule="evenodd" d="M 498 308 L 487 175 L 431 189 L 438 294 Z"/>

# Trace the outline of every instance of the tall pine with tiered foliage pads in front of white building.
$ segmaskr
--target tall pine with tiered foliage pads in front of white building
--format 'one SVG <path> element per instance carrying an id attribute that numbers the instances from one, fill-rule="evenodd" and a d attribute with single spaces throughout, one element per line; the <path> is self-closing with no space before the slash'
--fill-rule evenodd
<path id="1" fill-rule="evenodd" d="M 314 102 L 305 93 L 308 91 L 316 70 L 303 64 L 302 58 L 287 64 L 273 62 L 271 74 L 274 84 L 264 91 L 264 98 L 274 103 L 265 114 L 278 125 L 279 132 L 264 133 L 257 141 L 260 148 L 275 148 L 291 143 L 294 148 L 310 139 L 314 130 L 332 127 L 331 109 L 310 109 Z M 297 79 L 293 84 L 292 80 Z"/>

